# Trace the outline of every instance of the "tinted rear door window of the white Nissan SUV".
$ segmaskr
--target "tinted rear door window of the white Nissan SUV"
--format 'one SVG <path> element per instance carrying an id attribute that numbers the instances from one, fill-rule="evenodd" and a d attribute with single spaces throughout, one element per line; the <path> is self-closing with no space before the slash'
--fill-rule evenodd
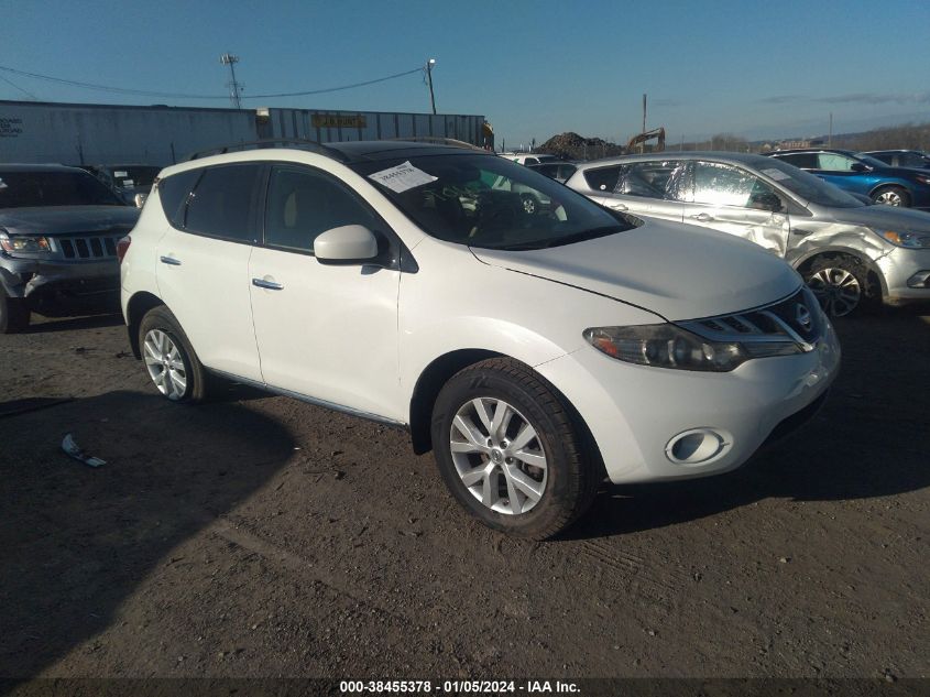
<path id="1" fill-rule="evenodd" d="M 229 240 L 255 241 L 252 213 L 260 171 L 254 164 L 205 170 L 187 204 L 184 228 Z"/>

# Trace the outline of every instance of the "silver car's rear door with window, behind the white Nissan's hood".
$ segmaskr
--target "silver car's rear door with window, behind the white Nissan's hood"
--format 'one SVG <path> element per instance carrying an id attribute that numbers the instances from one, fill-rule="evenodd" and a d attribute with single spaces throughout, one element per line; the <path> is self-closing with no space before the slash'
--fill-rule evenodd
<path id="1" fill-rule="evenodd" d="M 593 189 L 603 192 L 598 200 L 602 206 L 681 222 L 685 204 L 677 188 L 681 170 L 677 160 L 650 160 L 592 170 L 588 181 Z"/>

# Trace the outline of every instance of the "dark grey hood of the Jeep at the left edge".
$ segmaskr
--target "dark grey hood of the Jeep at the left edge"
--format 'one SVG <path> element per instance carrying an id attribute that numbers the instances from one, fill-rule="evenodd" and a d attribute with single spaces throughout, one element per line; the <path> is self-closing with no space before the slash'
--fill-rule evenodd
<path id="1" fill-rule="evenodd" d="M 70 235 L 131 228 L 139 209 L 130 206 L 48 206 L 0 209 L 0 228 L 18 235 Z"/>

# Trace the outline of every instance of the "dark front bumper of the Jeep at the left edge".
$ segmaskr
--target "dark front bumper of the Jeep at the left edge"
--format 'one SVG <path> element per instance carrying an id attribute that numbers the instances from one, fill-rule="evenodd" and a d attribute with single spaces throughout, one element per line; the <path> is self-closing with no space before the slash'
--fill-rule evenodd
<path id="1" fill-rule="evenodd" d="M 0 253 L 0 284 L 9 297 L 48 317 L 119 309 L 116 259 L 53 261 Z"/>

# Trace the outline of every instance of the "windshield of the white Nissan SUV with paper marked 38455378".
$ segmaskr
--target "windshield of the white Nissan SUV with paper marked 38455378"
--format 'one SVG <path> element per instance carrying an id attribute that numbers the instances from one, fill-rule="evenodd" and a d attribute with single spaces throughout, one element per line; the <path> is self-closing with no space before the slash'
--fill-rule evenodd
<path id="1" fill-rule="evenodd" d="M 469 247 L 543 249 L 633 227 L 547 176 L 495 155 L 424 155 L 353 168 L 426 232 Z"/>

